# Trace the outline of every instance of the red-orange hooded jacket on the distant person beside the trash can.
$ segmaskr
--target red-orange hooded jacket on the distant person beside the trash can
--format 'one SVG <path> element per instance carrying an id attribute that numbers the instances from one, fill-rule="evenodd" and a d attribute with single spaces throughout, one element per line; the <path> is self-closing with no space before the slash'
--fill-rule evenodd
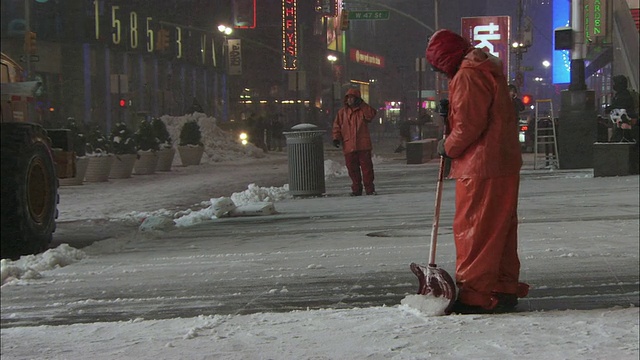
<path id="1" fill-rule="evenodd" d="M 371 135 L 368 124 L 376 116 L 376 109 L 362 101 L 353 108 L 347 105 L 347 96 L 360 98 L 358 89 L 349 89 L 344 96 L 344 106 L 338 111 L 333 121 L 332 135 L 334 140 L 342 141 L 342 152 L 371 150 Z"/>

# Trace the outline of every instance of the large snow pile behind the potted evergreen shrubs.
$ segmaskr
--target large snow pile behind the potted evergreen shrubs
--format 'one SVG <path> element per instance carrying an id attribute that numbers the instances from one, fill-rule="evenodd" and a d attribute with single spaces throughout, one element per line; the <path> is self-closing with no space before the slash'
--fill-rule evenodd
<path id="1" fill-rule="evenodd" d="M 206 114 L 195 112 L 183 116 L 164 115 L 160 117 L 160 120 L 167 125 L 167 131 L 169 131 L 174 146 L 178 146 L 180 143 L 180 130 L 182 130 L 184 123 L 187 121 L 198 123 L 202 133 L 201 141 L 204 144 L 202 163 L 209 164 L 233 160 L 238 157 L 261 158 L 265 156 L 264 151 L 253 144 L 242 145 L 237 142 L 233 134 L 220 129 L 216 119 Z M 179 156 L 176 156 L 173 161 L 174 165 L 182 164 Z"/>

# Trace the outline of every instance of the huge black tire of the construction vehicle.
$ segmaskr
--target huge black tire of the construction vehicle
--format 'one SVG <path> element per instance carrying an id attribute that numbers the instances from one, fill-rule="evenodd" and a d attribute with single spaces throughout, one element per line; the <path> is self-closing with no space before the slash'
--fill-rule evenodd
<path id="1" fill-rule="evenodd" d="M 48 248 L 58 217 L 58 178 L 46 131 L 3 123 L 0 256 L 17 259 Z"/>

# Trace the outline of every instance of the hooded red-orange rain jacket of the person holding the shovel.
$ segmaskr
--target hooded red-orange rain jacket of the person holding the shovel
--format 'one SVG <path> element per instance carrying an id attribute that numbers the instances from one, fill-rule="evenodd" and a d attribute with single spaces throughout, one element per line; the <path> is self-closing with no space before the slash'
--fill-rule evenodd
<path id="1" fill-rule="evenodd" d="M 522 166 L 518 125 L 500 59 L 465 41 L 432 37 L 427 60 L 449 75 L 445 152 L 452 178 L 517 175 Z M 458 68 L 459 64 L 459 68 Z"/>

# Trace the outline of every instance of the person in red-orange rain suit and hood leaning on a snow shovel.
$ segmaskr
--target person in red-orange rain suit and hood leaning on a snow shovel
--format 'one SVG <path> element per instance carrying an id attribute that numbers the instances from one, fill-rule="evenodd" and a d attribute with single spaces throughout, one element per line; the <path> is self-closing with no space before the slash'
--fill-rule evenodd
<path id="1" fill-rule="evenodd" d="M 427 61 L 449 78 L 449 134 L 438 144 L 456 179 L 456 313 L 513 310 L 519 282 L 518 124 L 502 62 L 450 30 L 429 40 Z"/>

